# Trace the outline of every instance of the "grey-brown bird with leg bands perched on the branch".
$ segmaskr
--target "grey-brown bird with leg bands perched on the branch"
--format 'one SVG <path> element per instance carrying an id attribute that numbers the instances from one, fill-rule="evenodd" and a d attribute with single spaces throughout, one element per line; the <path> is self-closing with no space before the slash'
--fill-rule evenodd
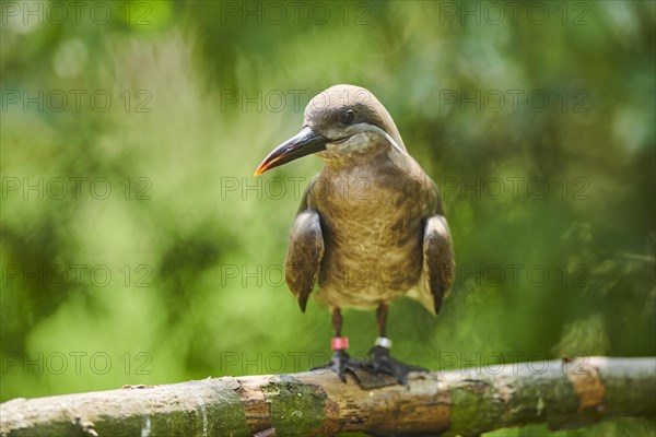
<path id="1" fill-rule="evenodd" d="M 390 354 L 387 314 L 403 295 L 437 315 L 454 282 L 452 234 L 438 189 L 408 153 L 391 116 L 366 88 L 340 84 L 307 104 L 301 131 L 274 147 L 255 175 L 316 154 L 284 260 L 285 282 L 305 312 L 313 291 L 331 310 L 333 355 L 324 366 L 342 381 L 365 369 L 407 383 Z M 360 362 L 342 336 L 342 309 L 375 310 L 378 336 Z"/>

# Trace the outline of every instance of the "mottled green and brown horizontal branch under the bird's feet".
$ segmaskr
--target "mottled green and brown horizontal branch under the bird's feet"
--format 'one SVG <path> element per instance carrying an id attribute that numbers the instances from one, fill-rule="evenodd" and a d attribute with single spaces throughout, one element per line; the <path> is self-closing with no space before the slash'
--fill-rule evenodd
<path id="1" fill-rule="evenodd" d="M 331 373 L 224 377 L 0 405 L 4 436 L 476 436 L 656 416 L 656 358 L 586 357 L 413 374 L 410 387 Z"/>

